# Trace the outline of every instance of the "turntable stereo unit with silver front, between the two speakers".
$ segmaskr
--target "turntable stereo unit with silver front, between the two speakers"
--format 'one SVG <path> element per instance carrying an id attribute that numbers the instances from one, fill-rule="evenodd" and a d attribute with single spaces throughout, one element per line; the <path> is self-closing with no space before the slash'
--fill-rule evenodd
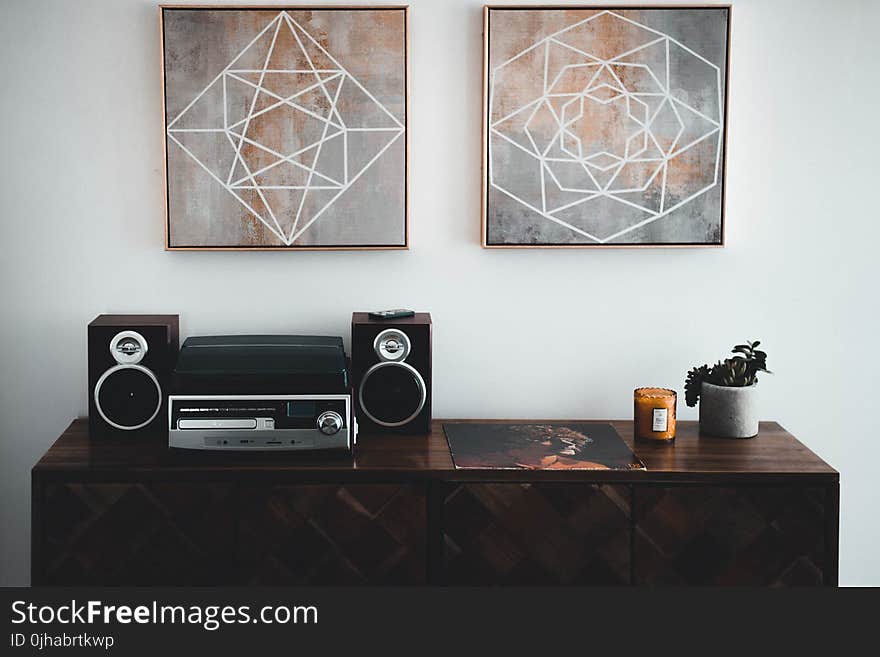
<path id="1" fill-rule="evenodd" d="M 342 338 L 187 338 L 168 404 L 168 445 L 207 450 L 351 449 L 357 437 Z"/>

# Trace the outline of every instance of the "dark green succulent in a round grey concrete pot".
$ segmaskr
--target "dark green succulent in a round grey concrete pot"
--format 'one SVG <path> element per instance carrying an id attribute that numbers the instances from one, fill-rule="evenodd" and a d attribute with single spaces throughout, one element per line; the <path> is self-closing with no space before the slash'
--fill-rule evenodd
<path id="1" fill-rule="evenodd" d="M 722 438 L 758 435 L 758 372 L 770 373 L 767 354 L 758 349 L 759 344 L 758 340 L 738 344 L 731 358 L 688 372 L 685 401 L 688 406 L 700 402 L 700 433 Z"/>

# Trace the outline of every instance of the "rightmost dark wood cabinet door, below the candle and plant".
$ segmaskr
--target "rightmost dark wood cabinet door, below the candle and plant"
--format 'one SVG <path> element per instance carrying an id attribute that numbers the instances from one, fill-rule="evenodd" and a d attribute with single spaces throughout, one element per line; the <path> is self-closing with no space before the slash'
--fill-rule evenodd
<path id="1" fill-rule="evenodd" d="M 824 582 L 825 489 L 636 486 L 635 584 Z"/>

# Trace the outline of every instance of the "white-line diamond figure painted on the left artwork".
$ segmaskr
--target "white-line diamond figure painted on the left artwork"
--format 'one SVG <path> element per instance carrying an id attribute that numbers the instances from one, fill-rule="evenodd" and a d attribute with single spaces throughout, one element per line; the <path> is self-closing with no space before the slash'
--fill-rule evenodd
<path id="1" fill-rule="evenodd" d="M 404 132 L 286 11 L 167 127 L 168 138 L 286 246 Z"/>

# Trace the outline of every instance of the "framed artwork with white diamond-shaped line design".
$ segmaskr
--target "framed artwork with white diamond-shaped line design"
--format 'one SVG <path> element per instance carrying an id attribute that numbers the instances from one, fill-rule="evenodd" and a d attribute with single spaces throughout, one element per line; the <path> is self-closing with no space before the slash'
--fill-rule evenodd
<path id="1" fill-rule="evenodd" d="M 160 18 L 166 249 L 408 248 L 406 7 Z"/>

